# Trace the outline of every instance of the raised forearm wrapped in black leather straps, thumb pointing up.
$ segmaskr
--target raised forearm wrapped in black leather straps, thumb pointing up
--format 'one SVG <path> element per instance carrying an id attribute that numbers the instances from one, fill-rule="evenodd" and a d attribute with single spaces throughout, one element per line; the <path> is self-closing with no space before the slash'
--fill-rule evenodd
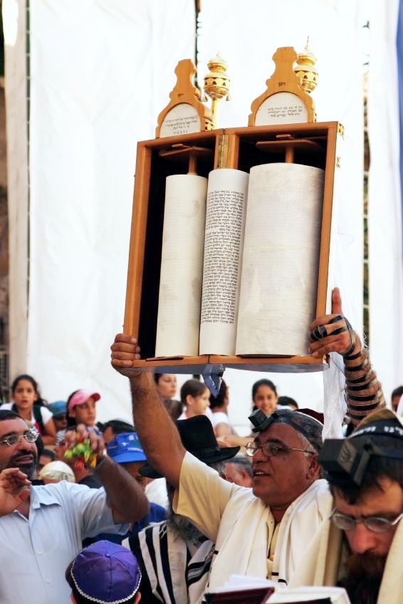
<path id="1" fill-rule="evenodd" d="M 372 369 L 368 350 L 342 316 L 340 291 L 332 293 L 332 314 L 315 319 L 310 325 L 310 352 L 315 357 L 339 353 L 345 364 L 348 415 L 356 425 L 365 415 L 385 406 L 382 386 Z"/>

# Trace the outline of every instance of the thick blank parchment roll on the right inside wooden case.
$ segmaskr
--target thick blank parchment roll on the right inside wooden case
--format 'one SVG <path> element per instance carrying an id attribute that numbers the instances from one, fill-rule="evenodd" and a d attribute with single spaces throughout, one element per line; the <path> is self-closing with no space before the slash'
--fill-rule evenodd
<path id="1" fill-rule="evenodd" d="M 237 355 L 307 355 L 315 318 L 323 182 L 316 167 L 251 168 Z"/>

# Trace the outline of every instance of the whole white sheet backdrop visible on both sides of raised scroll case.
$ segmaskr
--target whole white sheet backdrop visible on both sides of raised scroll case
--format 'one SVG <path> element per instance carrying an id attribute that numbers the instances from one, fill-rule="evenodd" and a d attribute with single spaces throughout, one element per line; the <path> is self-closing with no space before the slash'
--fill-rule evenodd
<path id="1" fill-rule="evenodd" d="M 358 0 L 202 1 L 199 75 L 229 63 L 220 126 L 246 125 L 278 46 L 318 56 L 318 120 L 345 125 L 333 283 L 361 327 L 362 51 Z M 180 35 L 179 35 L 180 32 Z M 127 382 L 109 365 L 122 325 L 137 140 L 154 137 L 174 67 L 194 52 L 194 3 L 31 3 L 31 282 L 26 369 L 49 400 L 99 390 L 99 417 L 130 417 Z M 202 81 L 199 79 L 199 81 Z M 227 371 L 231 419 L 246 427 L 257 373 Z M 319 408 L 321 375 L 268 375 L 280 394 Z M 182 376 L 181 382 L 184 380 Z"/>

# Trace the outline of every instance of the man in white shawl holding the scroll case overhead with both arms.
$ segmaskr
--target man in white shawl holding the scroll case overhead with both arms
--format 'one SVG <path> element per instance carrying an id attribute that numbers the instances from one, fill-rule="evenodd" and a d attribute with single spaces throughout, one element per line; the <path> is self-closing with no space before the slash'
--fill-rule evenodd
<path id="1" fill-rule="evenodd" d="M 340 313 L 335 290 L 333 313 L 310 326 L 310 352 L 343 355 L 353 384 L 352 392 L 347 391 L 350 417 L 356 422 L 384 400 L 358 335 Z M 216 543 L 210 588 L 223 585 L 231 574 L 288 583 L 331 511 L 332 498 L 318 464 L 320 422 L 301 410 L 253 417 L 256 437 L 246 448 L 253 456 L 251 492 L 222 481 L 185 452 L 152 379 L 130 369 L 132 360 L 140 358 L 137 341 L 118 334 L 111 348 L 112 365 L 130 378 L 135 425 L 147 459 L 177 489 L 174 511 Z"/>

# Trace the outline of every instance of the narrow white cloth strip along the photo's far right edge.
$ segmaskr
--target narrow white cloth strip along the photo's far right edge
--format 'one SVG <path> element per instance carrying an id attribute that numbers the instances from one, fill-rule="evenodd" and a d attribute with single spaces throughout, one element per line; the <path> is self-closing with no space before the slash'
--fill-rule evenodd
<path id="1" fill-rule="evenodd" d="M 368 78 L 370 350 L 372 364 L 389 399 L 392 390 L 403 382 L 402 206 L 396 57 L 399 1 L 372 1 L 371 8 Z"/>

